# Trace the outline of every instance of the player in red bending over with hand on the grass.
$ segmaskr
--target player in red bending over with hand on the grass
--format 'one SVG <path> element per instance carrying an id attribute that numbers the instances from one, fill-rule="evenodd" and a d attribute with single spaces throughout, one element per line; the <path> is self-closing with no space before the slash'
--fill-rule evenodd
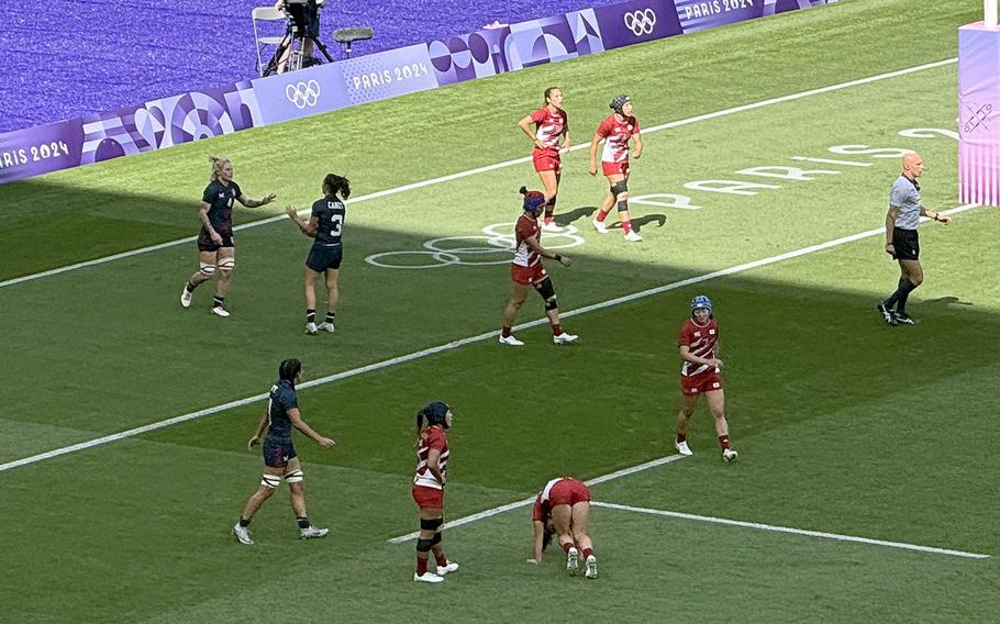
<path id="1" fill-rule="evenodd" d="M 541 564 L 542 553 L 557 534 L 559 546 L 566 553 L 566 569 L 576 575 L 580 568 L 580 555 L 584 556 L 584 576 L 597 578 L 597 557 L 593 555 L 593 542 L 587 533 L 587 521 L 590 516 L 590 490 L 582 482 L 569 477 L 557 477 L 545 483 L 545 488 L 535 497 L 531 521 L 535 527 L 535 556 L 529 564 Z"/>

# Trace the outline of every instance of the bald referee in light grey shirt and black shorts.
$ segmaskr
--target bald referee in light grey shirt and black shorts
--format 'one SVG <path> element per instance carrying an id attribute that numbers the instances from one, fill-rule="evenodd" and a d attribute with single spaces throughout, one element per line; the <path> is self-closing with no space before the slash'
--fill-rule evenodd
<path id="1" fill-rule="evenodd" d="M 903 172 L 892 183 L 889 192 L 889 213 L 886 214 L 886 253 L 899 261 L 899 285 L 888 299 L 876 309 L 889 325 L 914 325 L 907 314 L 907 299 L 923 283 L 923 267 L 920 266 L 920 241 L 916 225 L 921 216 L 947 225 L 952 218 L 920 203 L 920 185 L 916 178 L 923 174 L 923 158 L 915 152 L 903 156 Z"/>

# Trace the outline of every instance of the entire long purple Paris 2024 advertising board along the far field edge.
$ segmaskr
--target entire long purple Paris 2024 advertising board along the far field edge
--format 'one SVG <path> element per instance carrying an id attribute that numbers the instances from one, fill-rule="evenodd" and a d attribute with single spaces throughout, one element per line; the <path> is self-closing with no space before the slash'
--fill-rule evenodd
<path id="1" fill-rule="evenodd" d="M 833 1 L 627 0 L 184 93 L 0 134 L 0 182 Z"/>

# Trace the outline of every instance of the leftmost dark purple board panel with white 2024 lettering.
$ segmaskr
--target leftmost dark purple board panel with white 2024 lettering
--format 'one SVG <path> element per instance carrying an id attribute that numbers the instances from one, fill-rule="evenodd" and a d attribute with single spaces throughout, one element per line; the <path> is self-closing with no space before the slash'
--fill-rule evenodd
<path id="1" fill-rule="evenodd" d="M 80 120 L 0 134 L 0 182 L 80 165 Z"/>

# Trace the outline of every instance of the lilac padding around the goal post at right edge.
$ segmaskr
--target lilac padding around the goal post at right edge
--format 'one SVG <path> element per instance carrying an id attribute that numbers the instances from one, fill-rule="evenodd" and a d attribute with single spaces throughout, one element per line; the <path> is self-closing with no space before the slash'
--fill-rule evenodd
<path id="1" fill-rule="evenodd" d="M 958 201 L 1000 205 L 1000 32 L 958 29 Z"/>

